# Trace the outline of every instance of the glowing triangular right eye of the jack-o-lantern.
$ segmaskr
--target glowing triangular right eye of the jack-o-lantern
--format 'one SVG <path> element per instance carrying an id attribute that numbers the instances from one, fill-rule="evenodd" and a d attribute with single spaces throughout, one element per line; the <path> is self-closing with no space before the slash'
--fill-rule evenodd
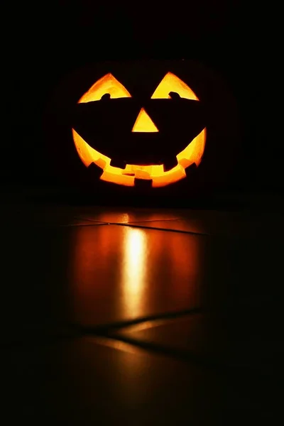
<path id="1" fill-rule="evenodd" d="M 180 80 L 180 78 L 172 72 L 168 72 L 168 74 L 165 75 L 157 89 L 155 89 L 155 92 L 152 94 L 151 99 L 173 99 L 173 97 L 170 96 L 170 92 L 175 92 L 185 99 L 199 101 L 195 92 L 193 92 L 193 90 L 190 89 L 185 82 Z"/>

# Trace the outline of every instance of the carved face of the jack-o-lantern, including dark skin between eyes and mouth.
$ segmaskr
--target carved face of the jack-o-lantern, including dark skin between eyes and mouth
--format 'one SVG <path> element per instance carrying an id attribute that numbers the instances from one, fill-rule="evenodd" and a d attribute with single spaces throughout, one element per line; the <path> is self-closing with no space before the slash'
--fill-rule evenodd
<path id="1" fill-rule="evenodd" d="M 102 168 L 101 180 L 126 186 L 137 179 L 151 180 L 153 187 L 162 187 L 185 178 L 185 169 L 193 163 L 200 165 L 206 141 L 204 111 L 192 89 L 172 72 L 143 106 L 111 73 L 78 103 L 87 108 L 80 105 L 75 119 L 79 130 L 72 129 L 77 153 L 86 167 L 94 163 Z"/>

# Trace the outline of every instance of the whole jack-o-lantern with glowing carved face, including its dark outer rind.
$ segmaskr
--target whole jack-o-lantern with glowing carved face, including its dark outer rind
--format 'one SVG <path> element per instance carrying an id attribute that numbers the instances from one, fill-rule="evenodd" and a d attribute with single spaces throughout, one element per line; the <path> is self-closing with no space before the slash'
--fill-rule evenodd
<path id="1" fill-rule="evenodd" d="M 222 185 L 237 158 L 234 99 L 191 60 L 87 65 L 59 84 L 47 112 L 57 173 L 102 197 L 199 194 Z"/>

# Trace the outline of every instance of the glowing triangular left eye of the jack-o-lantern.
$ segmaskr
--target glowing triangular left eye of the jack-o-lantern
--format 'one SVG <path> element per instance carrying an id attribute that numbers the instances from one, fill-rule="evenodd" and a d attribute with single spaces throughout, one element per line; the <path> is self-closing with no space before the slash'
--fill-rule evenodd
<path id="1" fill-rule="evenodd" d="M 104 77 L 97 80 L 97 82 L 95 82 L 92 87 L 83 94 L 78 104 L 83 102 L 99 101 L 99 99 L 102 99 L 104 94 L 109 94 L 112 99 L 131 97 L 129 91 L 126 90 L 119 80 L 116 80 L 116 78 L 109 72 L 109 74 L 104 75 Z"/>

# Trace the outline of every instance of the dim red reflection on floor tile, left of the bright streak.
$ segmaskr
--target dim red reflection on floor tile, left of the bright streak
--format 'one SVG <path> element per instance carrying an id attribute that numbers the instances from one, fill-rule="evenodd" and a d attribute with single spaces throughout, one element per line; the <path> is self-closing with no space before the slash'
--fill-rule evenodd
<path id="1" fill-rule="evenodd" d="M 94 314 L 104 322 L 109 298 L 113 298 L 115 304 L 107 321 L 121 315 L 121 292 L 116 283 L 122 255 L 115 235 L 113 227 L 107 224 L 72 229 L 70 285 L 73 314 L 80 322 L 93 323 Z"/>

